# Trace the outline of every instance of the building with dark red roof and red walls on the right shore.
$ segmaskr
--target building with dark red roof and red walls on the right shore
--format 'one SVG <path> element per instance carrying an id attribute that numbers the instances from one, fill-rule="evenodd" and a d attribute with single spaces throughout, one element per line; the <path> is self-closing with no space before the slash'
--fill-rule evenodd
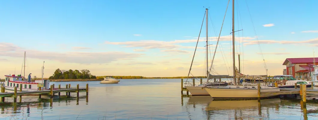
<path id="1" fill-rule="evenodd" d="M 314 62 L 315 61 L 315 62 Z M 318 65 L 318 58 L 287 58 L 283 65 L 286 66 L 287 75 L 293 75 L 296 79 L 311 79 L 310 73 Z"/>

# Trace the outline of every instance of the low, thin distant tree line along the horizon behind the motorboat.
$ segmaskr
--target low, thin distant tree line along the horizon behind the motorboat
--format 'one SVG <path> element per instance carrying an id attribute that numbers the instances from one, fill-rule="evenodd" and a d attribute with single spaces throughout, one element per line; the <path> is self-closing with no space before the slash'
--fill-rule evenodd
<path id="1" fill-rule="evenodd" d="M 106 76 L 97 76 L 97 79 L 102 79 Z M 187 78 L 187 76 L 179 77 L 143 77 L 143 76 L 113 76 L 115 79 L 178 79 Z M 206 78 L 206 76 L 189 76 L 189 78 Z"/>

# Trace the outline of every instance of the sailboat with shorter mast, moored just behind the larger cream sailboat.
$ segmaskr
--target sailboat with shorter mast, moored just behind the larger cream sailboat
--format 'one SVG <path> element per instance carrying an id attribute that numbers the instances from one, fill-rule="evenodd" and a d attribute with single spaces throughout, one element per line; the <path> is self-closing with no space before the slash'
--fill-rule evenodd
<path id="1" fill-rule="evenodd" d="M 229 75 L 211 75 L 210 72 L 208 71 L 208 9 L 205 9 L 205 10 L 206 10 L 206 77 L 207 77 L 207 79 L 206 79 L 206 82 L 204 84 L 200 84 L 198 86 L 190 86 L 189 84 L 186 84 L 185 87 L 191 93 L 192 96 L 195 96 L 195 95 L 209 95 L 209 93 L 206 90 L 202 89 L 202 87 L 227 86 L 228 85 L 227 82 L 222 82 L 221 78 L 227 78 Z M 203 21 L 202 21 L 202 25 L 203 25 Z M 201 29 L 202 29 L 202 26 L 201 26 Z M 201 31 L 200 31 L 200 33 L 201 33 Z M 200 37 L 200 34 L 199 34 L 199 37 Z M 217 43 L 218 43 L 218 41 L 217 41 Z M 218 46 L 218 44 L 217 44 L 217 46 Z M 215 47 L 214 55 L 216 53 L 216 48 L 217 47 Z M 197 49 L 197 46 L 196 46 L 196 49 Z M 196 52 L 196 50 L 194 51 L 194 55 L 195 55 L 195 52 Z M 190 74 L 190 71 L 191 71 L 194 55 L 193 55 L 193 58 L 192 58 L 192 62 L 191 62 L 190 70 L 189 70 L 189 73 L 188 73 L 188 77 L 189 77 L 189 74 Z M 213 60 L 214 60 L 214 56 L 213 56 L 213 59 L 212 59 L 212 63 L 213 63 Z M 210 70 L 211 70 L 211 68 L 210 68 Z M 214 79 L 214 82 L 209 82 L 209 80 L 211 80 L 211 79 Z M 220 81 L 215 81 L 216 79 L 219 79 Z"/>

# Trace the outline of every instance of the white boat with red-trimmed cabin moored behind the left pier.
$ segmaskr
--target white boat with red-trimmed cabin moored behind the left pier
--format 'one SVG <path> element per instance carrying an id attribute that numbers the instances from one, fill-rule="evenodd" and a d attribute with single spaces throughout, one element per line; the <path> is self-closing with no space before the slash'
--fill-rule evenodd
<path id="1" fill-rule="evenodd" d="M 25 52 L 24 52 L 24 75 L 25 75 Z M 31 73 L 28 75 L 28 79 L 25 79 L 25 76 L 21 74 L 15 75 L 4 75 L 5 81 L 4 86 L 5 92 L 13 92 L 14 88 L 20 89 L 22 87 L 22 91 L 37 91 L 38 86 L 41 86 L 42 90 L 48 89 L 50 85 L 50 80 L 43 80 L 43 73 L 44 72 L 44 62 L 42 67 L 42 80 L 35 80 L 34 82 L 31 81 Z M 22 73 L 22 71 L 21 71 Z"/>

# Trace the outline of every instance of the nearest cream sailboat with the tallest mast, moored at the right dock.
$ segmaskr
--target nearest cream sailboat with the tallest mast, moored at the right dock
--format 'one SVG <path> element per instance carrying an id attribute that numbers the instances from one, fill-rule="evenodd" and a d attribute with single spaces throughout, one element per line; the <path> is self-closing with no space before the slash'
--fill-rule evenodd
<path id="1" fill-rule="evenodd" d="M 234 0 L 232 0 L 232 55 L 233 55 L 233 81 L 236 81 L 236 76 L 242 76 L 235 67 L 235 39 L 234 39 Z M 211 69 L 210 69 L 211 71 Z M 236 83 L 236 82 L 234 82 Z M 204 87 L 204 89 L 209 93 L 213 98 L 257 98 L 258 90 L 256 84 L 237 84 L 237 85 L 227 85 L 227 86 L 210 86 Z M 260 92 L 269 92 L 269 91 L 280 91 L 276 87 L 268 87 L 260 85 Z M 271 97 L 276 95 L 260 95 L 263 97 Z"/>

